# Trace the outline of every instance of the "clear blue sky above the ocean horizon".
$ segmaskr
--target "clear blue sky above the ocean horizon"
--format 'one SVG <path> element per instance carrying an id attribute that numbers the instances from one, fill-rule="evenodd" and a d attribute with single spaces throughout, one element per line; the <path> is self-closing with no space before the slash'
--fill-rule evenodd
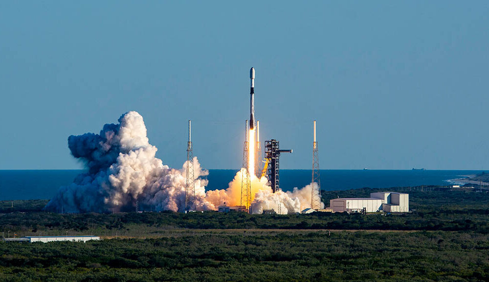
<path id="1" fill-rule="evenodd" d="M 69 135 L 127 111 L 157 157 L 241 167 L 489 169 L 489 1 L 0 1 L 0 169 L 81 168 Z"/>

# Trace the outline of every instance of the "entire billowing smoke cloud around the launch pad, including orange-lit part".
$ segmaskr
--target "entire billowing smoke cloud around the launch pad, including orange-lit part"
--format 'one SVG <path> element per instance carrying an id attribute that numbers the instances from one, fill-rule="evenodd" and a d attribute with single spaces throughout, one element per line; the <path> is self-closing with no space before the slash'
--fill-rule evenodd
<path id="1" fill-rule="evenodd" d="M 172 169 L 155 157 L 157 149 L 149 143 L 143 118 L 137 112 L 126 113 L 118 121 L 104 125 L 100 134 L 68 138 L 71 154 L 85 164 L 87 172 L 78 175 L 71 185 L 61 187 L 46 210 L 134 211 L 136 201 L 140 210 L 184 210 L 186 163 L 181 169 Z M 217 210 L 224 203 L 241 205 L 244 169 L 236 173 L 227 189 L 206 193 L 207 180 L 200 177 L 208 171 L 200 167 L 197 158 L 193 164 L 198 210 Z M 283 214 L 300 212 L 311 206 L 311 185 L 272 193 L 266 178 L 252 176 L 251 200 L 253 213 L 264 209 Z"/>

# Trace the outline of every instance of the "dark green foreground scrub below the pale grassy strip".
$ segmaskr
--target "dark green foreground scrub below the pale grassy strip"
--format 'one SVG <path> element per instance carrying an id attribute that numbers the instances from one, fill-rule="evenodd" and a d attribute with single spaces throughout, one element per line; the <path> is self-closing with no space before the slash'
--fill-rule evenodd
<path id="1" fill-rule="evenodd" d="M 207 231 L 0 244 L 2 281 L 488 281 L 489 236 Z"/>

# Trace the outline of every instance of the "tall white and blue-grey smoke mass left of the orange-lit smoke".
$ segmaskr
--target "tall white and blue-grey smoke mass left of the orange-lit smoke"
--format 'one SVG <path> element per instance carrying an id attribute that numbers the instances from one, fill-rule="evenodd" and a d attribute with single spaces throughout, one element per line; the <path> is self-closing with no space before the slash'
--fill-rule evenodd
<path id="1" fill-rule="evenodd" d="M 171 169 L 155 157 L 156 147 L 148 142 L 143 118 L 129 112 L 119 124 L 106 124 L 100 134 L 70 136 L 71 154 L 88 172 L 74 183 L 61 187 L 46 210 L 66 212 L 134 211 L 141 209 L 182 211 L 185 201 L 185 167 Z M 196 203 L 199 209 L 213 208 L 205 200 L 208 172 L 193 160 Z"/>

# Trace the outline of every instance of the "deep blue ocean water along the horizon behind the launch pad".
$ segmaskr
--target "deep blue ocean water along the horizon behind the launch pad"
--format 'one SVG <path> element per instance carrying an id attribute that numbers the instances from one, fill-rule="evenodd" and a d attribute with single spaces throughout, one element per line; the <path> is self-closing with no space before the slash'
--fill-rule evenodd
<path id="1" fill-rule="evenodd" d="M 228 187 L 238 170 L 210 169 L 208 190 Z M 50 199 L 83 170 L 0 170 L 0 200 Z M 448 185 L 448 180 L 482 170 L 320 170 L 321 189 L 390 188 Z M 311 170 L 280 170 L 280 188 L 290 191 L 311 183 Z"/>

